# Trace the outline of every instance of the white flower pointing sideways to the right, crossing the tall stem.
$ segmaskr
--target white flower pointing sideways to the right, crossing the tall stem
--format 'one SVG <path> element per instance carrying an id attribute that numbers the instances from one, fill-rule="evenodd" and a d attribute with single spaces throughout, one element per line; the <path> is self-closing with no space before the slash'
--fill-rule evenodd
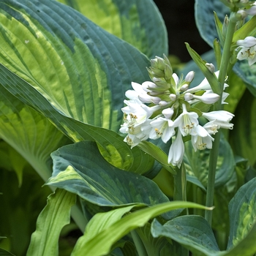
<path id="1" fill-rule="evenodd" d="M 221 128 L 233 129 L 233 124 L 230 124 L 230 121 L 234 116 L 233 113 L 225 110 L 219 110 L 203 113 L 202 116 L 208 119 L 208 121 L 214 121 L 214 124 Z"/>

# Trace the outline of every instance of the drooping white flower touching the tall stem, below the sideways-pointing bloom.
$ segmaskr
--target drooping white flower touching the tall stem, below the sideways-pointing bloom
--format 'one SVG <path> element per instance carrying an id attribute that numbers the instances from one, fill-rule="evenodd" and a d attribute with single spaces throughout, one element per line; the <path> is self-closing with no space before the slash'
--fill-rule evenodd
<path id="1" fill-rule="evenodd" d="M 197 135 L 191 136 L 194 150 L 197 151 L 197 149 L 203 150 L 205 148 L 212 148 L 212 142 L 214 141 L 214 138 L 209 135 L 205 127 L 197 125 L 195 129 L 197 131 Z"/>

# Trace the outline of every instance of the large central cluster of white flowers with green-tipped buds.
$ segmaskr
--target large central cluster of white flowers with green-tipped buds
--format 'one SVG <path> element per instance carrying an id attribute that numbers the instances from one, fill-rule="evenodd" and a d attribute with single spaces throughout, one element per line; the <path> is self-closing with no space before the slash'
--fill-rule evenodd
<path id="1" fill-rule="evenodd" d="M 212 135 L 219 128 L 233 129 L 233 124 L 230 124 L 232 113 L 225 110 L 203 112 L 219 100 L 219 95 L 211 90 L 206 79 L 189 89 L 195 72 L 189 72 L 184 79 L 183 76 L 178 78 L 166 56 L 164 59 L 158 56 L 152 59 L 148 74 L 151 81 L 141 85 L 132 83 L 133 90 L 126 92 L 128 100 L 124 100 L 127 106 L 122 108 L 124 124 L 120 132 L 127 134 L 124 141 L 130 146 L 134 147 L 148 138 L 161 138 L 164 143 L 173 140 L 168 162 L 180 167 L 185 137 L 191 138 L 197 151 L 212 147 Z M 222 94 L 222 103 L 227 96 L 227 93 Z M 201 125 L 199 118 L 203 118 L 206 124 Z"/>

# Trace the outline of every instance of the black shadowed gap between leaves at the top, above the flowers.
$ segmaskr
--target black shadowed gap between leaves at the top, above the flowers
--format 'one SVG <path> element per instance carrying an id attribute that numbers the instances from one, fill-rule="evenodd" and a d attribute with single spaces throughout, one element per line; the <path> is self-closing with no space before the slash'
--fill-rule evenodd
<path id="1" fill-rule="evenodd" d="M 182 62 L 191 60 L 184 42 L 188 42 L 199 54 L 206 53 L 211 49 L 197 31 L 194 0 L 154 0 L 154 2 L 165 20 L 169 39 L 169 54 L 178 56 Z"/>

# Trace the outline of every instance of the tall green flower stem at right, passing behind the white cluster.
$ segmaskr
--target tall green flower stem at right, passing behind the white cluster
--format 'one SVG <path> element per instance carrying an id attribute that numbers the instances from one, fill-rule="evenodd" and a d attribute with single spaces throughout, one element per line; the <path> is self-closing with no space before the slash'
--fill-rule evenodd
<path id="1" fill-rule="evenodd" d="M 235 13 L 230 14 L 230 22 L 227 27 L 227 34 L 225 39 L 225 44 L 222 53 L 222 61 L 219 67 L 219 85 L 221 86 L 220 99 L 216 105 L 214 105 L 214 110 L 222 109 L 222 92 L 225 83 L 225 78 L 227 74 L 227 67 L 230 63 L 230 46 L 233 39 L 233 34 L 236 28 L 236 21 L 233 19 Z M 208 169 L 208 184 L 207 184 L 207 192 L 206 192 L 206 206 L 211 207 L 214 204 L 214 184 L 215 184 L 215 174 L 217 167 L 217 159 L 219 155 L 219 140 L 220 140 L 220 132 L 218 132 L 214 136 L 214 143 L 210 152 L 209 159 L 209 169 Z M 212 211 L 206 211 L 205 218 L 209 225 L 211 225 L 212 221 Z"/>

